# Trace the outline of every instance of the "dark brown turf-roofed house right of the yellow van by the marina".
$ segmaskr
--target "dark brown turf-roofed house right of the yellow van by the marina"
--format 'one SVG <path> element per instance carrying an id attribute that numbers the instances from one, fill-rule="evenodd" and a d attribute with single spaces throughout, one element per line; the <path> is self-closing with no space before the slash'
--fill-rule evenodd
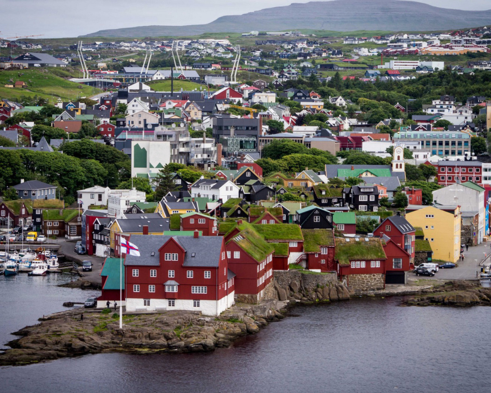
<path id="1" fill-rule="evenodd" d="M 42 234 L 46 237 L 82 237 L 82 212 L 78 209 L 43 210 Z"/>

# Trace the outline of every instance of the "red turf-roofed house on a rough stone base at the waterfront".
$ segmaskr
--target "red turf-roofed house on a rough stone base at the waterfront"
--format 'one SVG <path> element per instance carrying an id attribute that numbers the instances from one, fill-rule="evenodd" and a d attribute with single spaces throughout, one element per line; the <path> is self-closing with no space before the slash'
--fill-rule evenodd
<path id="1" fill-rule="evenodd" d="M 385 288 L 385 260 L 379 238 L 336 239 L 334 259 L 339 280 L 358 290 Z"/>

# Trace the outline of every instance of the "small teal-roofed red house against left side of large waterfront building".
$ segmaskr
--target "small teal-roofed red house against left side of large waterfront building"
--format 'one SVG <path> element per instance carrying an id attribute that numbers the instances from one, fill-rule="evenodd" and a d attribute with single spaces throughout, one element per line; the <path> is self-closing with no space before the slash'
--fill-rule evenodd
<path id="1" fill-rule="evenodd" d="M 97 298 L 97 308 L 104 309 L 109 301 L 110 306 L 114 306 L 114 302 L 119 306 L 119 288 L 121 287 L 123 302 L 121 306 L 125 306 L 125 287 L 124 287 L 124 268 L 120 268 L 121 260 L 119 258 L 106 258 L 101 270 L 102 293 Z"/>

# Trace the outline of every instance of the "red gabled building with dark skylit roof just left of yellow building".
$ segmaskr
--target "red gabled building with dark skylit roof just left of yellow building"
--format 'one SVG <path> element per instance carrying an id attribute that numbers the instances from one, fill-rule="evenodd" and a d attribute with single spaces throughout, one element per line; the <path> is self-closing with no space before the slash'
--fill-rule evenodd
<path id="1" fill-rule="evenodd" d="M 401 212 L 397 212 L 397 216 L 387 217 L 382 223 L 375 228 L 374 236 L 382 237 L 387 235 L 397 245 L 406 250 L 411 261 L 414 260 L 414 242 L 416 239 L 416 229 L 409 224 L 406 218 L 401 216 Z"/>

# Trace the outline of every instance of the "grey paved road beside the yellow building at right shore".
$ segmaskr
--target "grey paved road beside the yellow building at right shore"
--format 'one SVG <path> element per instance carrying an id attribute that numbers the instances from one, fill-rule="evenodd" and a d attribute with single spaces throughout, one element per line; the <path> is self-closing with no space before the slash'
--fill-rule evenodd
<path id="1" fill-rule="evenodd" d="M 470 280 L 476 278 L 476 271 L 481 271 L 481 263 L 484 259 L 484 253 L 487 256 L 491 253 L 490 243 L 481 243 L 479 246 L 469 247 L 464 251 L 464 260 L 458 262 L 458 267 L 453 269 L 439 269 L 434 277 L 419 276 L 418 279 L 439 279 L 439 280 Z M 441 264 L 442 262 L 440 262 Z M 490 264 L 490 258 L 485 261 L 486 265 Z M 477 266 L 477 267 L 476 267 Z M 415 279 L 413 273 L 409 273 L 410 279 Z"/>

